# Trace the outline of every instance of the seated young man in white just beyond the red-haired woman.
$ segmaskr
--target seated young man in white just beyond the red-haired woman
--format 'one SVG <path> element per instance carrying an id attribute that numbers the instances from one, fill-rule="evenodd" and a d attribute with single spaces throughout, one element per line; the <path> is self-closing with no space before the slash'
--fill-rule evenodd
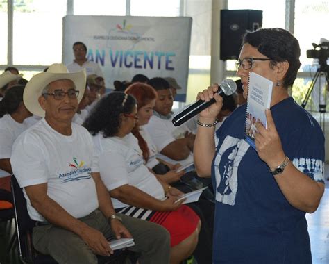
<path id="1" fill-rule="evenodd" d="M 154 115 L 146 124 L 146 130 L 160 151 L 158 158 L 172 164 L 178 161 L 181 164 L 192 162 L 195 135 L 184 124 L 179 127 L 172 124 L 174 98 L 168 81 L 156 77 L 150 79 L 149 85 L 156 90 L 158 97 L 155 100 Z"/>

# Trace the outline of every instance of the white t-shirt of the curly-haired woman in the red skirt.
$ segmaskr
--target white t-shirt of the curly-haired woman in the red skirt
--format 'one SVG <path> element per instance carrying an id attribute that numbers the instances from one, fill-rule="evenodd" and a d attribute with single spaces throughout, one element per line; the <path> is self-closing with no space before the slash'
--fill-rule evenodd
<path id="1" fill-rule="evenodd" d="M 142 150 L 132 133 L 124 138 L 94 136 L 96 153 L 99 155 L 101 179 L 108 190 L 128 184 L 146 192 L 156 199 L 163 199 L 165 192 L 155 176 L 144 165 Z M 114 208 L 128 206 L 112 198 Z"/>

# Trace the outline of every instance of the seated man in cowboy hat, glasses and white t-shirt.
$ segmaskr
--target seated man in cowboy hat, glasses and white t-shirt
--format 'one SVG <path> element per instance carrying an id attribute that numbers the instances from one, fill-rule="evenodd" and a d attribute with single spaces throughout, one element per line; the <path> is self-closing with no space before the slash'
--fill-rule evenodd
<path id="1" fill-rule="evenodd" d="M 97 263 L 110 256 L 108 239 L 130 238 L 139 263 L 169 263 L 169 233 L 161 226 L 117 215 L 99 175 L 90 133 L 71 122 L 85 89 L 85 70 L 51 65 L 33 76 L 24 104 L 44 119 L 14 143 L 11 163 L 37 221 L 33 245 L 58 263 Z"/>

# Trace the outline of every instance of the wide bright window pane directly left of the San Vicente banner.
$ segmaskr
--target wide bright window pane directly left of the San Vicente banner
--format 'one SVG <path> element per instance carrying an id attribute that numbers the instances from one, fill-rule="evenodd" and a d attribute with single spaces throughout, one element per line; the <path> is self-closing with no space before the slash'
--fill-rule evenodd
<path id="1" fill-rule="evenodd" d="M 66 6 L 66 0 L 14 1 L 14 65 L 50 65 L 62 60 Z"/>

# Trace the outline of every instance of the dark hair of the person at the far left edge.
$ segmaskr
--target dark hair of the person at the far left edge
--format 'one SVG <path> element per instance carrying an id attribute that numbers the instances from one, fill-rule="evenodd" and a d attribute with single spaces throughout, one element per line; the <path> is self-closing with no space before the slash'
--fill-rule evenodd
<path id="1" fill-rule="evenodd" d="M 15 113 L 19 104 L 23 101 L 24 88 L 25 85 L 14 85 L 9 90 L 6 90 L 5 96 L 0 101 L 0 117 Z"/>

